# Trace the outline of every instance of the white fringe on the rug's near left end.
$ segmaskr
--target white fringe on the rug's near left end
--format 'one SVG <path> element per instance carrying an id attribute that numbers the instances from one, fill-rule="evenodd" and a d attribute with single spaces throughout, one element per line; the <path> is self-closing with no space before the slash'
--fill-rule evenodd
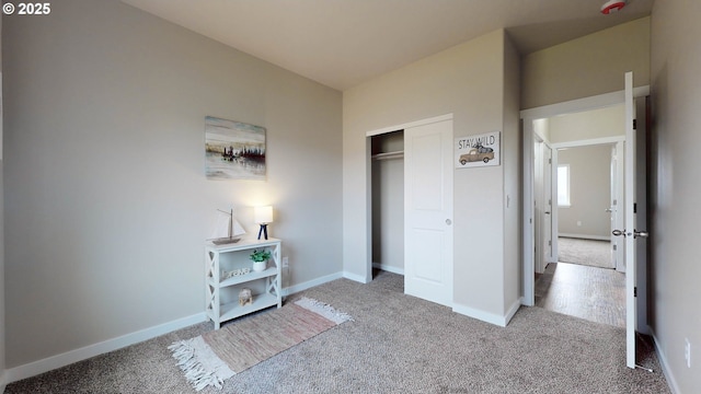
<path id="1" fill-rule="evenodd" d="M 180 369 L 185 372 L 185 379 L 196 391 L 208 385 L 221 389 L 225 379 L 234 375 L 202 337 L 176 341 L 168 348 L 173 352 Z"/>

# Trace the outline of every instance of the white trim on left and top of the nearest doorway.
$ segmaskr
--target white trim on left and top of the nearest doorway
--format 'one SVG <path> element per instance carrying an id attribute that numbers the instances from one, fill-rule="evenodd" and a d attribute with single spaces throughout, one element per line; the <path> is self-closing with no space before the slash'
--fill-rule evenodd
<path id="1" fill-rule="evenodd" d="M 650 95 L 650 86 L 639 86 L 633 89 L 634 97 Z M 533 262 L 533 141 L 535 129 L 533 120 L 578 113 L 584 111 L 604 108 L 612 105 L 623 104 L 625 101 L 625 91 L 600 94 L 590 97 L 572 100 L 563 103 L 545 105 L 536 108 L 524 109 L 520 116 L 524 124 L 522 154 L 524 154 L 524 305 L 532 306 L 536 303 L 535 296 L 535 262 Z"/>

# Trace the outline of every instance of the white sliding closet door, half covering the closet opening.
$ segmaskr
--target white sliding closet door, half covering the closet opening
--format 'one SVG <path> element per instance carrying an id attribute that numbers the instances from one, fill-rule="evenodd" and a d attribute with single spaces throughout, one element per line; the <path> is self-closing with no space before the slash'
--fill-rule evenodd
<path id="1" fill-rule="evenodd" d="M 452 120 L 404 129 L 404 291 L 452 304 Z"/>

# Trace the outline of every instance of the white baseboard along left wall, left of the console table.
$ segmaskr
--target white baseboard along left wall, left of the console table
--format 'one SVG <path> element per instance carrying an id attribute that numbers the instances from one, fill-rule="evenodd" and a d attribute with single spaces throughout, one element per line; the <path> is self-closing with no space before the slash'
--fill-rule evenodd
<path id="1" fill-rule="evenodd" d="M 32 378 L 37 374 L 55 370 L 57 368 L 87 360 L 91 357 L 103 355 L 151 338 L 156 338 L 163 334 L 168 334 L 176 329 L 185 328 L 191 325 L 205 322 L 206 320 L 207 315 L 204 312 L 197 313 L 192 316 L 179 318 L 169 323 L 123 335 L 117 338 L 107 339 L 99 344 L 89 345 L 79 349 L 67 351 L 65 354 L 51 356 L 43 360 L 10 368 L 5 370 L 5 373 L 3 375 L 3 383 L 7 384 L 16 382 L 22 379 Z"/>

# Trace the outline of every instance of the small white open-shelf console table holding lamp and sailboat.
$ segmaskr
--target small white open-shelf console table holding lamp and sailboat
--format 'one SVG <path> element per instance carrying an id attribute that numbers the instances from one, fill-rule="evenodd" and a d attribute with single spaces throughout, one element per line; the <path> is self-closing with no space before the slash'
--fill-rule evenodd
<path id="1" fill-rule="evenodd" d="M 249 258 L 254 250 L 266 248 L 271 252 L 267 268 L 256 273 L 251 268 L 253 262 Z M 237 243 L 205 245 L 206 275 L 206 313 L 215 323 L 215 329 L 221 327 L 221 322 L 242 316 L 265 308 L 283 305 L 280 240 L 248 240 Z M 222 273 L 242 268 L 251 268 L 244 275 L 223 279 Z M 253 303 L 239 305 L 239 291 L 250 289 Z"/>

